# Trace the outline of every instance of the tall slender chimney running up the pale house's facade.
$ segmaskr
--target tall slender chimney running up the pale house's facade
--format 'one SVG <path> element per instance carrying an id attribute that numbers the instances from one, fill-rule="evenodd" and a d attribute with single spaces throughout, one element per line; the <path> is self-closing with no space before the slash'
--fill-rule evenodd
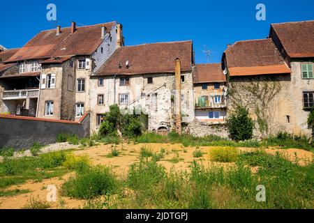
<path id="1" fill-rule="evenodd" d="M 176 84 L 176 95 L 175 98 L 175 122 L 176 132 L 181 134 L 181 61 L 179 58 L 175 60 L 175 84 Z"/>

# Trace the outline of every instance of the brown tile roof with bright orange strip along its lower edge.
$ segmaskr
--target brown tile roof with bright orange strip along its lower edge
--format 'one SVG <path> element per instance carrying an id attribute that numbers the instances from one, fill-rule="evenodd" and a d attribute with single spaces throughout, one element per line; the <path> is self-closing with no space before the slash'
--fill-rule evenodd
<path id="1" fill-rule="evenodd" d="M 271 39 L 246 40 L 225 50 L 230 76 L 290 73 Z"/>

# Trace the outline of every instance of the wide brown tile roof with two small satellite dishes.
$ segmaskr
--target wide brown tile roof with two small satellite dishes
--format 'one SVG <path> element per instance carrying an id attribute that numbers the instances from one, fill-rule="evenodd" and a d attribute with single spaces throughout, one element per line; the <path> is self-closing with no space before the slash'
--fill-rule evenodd
<path id="1" fill-rule="evenodd" d="M 181 60 L 181 71 L 190 71 L 193 63 L 192 50 L 190 40 L 120 47 L 99 68 L 95 76 L 172 73 L 174 60 L 177 58 Z M 129 62 L 128 68 L 126 61 Z"/>

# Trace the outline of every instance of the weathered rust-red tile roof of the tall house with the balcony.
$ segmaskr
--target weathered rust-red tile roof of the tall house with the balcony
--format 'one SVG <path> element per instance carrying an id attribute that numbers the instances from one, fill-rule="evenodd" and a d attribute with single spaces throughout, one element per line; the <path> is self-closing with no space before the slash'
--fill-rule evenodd
<path id="1" fill-rule="evenodd" d="M 81 26 L 77 27 L 74 33 L 70 33 L 71 27 L 61 28 L 59 36 L 56 36 L 56 29 L 41 31 L 8 61 L 92 54 L 102 41 L 101 26 L 105 26 L 107 31 L 110 31 L 115 24 L 116 22 L 108 22 Z"/>

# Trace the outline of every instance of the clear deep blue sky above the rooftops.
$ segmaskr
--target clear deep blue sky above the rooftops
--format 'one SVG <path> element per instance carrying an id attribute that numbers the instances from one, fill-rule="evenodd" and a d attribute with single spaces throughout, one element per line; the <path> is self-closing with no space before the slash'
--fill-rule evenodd
<path id="1" fill-rule="evenodd" d="M 126 45 L 193 40 L 196 63 L 219 62 L 227 43 L 266 38 L 269 24 L 314 20 L 313 0 L 40 0 L 1 1 L 0 45 L 22 47 L 36 33 L 52 29 L 46 6 L 55 3 L 61 26 L 117 21 L 124 25 Z M 118 4 L 119 3 L 119 4 Z M 264 3 L 266 21 L 255 19 L 255 6 Z"/>

